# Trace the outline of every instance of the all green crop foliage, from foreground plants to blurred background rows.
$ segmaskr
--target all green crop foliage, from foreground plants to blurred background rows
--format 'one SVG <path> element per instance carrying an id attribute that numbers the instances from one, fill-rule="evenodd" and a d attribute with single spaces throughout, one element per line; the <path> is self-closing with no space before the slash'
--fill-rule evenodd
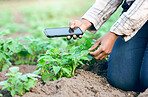
<path id="1" fill-rule="evenodd" d="M 48 39 L 43 30 L 48 27 L 68 26 L 71 19 L 82 16 L 93 3 L 94 1 L 89 0 L 51 0 L 46 6 L 38 3 L 21 5 L 17 11 L 15 9 L 21 16 L 18 21 L 15 21 L 13 9 L 8 7 L 6 10 L 5 6 L 1 6 L 4 10 L 0 10 L 0 71 L 10 70 L 10 73 L 6 73 L 8 80 L 0 82 L 2 89 L 10 91 L 12 96 L 22 96 L 39 79 L 46 83 L 62 77 L 72 77 L 76 68 L 91 61 L 88 49 L 102 33 L 109 31 L 117 14 L 97 34 L 86 32 L 82 39 Z M 13 34 L 17 36 L 19 33 L 27 33 L 28 36 L 11 38 Z M 5 36 L 10 38 L 4 38 Z M 17 67 L 21 64 L 37 65 L 36 71 L 23 75 Z"/>

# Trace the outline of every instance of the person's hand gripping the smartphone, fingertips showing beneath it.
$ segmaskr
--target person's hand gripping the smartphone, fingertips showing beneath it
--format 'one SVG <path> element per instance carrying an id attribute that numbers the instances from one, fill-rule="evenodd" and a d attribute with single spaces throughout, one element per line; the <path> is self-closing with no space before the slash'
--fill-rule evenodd
<path id="1" fill-rule="evenodd" d="M 69 27 L 71 27 L 72 29 L 76 30 L 78 27 L 83 31 L 83 33 L 91 26 L 92 24 L 86 20 L 86 19 L 82 19 L 82 20 L 72 20 L 69 23 Z M 74 39 L 77 39 L 76 35 L 73 35 Z M 79 35 L 79 38 L 82 38 L 82 35 Z M 71 39 L 71 36 L 67 36 L 67 39 Z"/>

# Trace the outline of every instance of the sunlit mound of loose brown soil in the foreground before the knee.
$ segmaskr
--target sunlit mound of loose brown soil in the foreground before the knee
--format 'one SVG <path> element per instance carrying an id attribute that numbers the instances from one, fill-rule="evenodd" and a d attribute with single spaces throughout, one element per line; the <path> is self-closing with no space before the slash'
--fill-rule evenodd
<path id="1" fill-rule="evenodd" d="M 125 92 L 110 86 L 106 79 L 89 71 L 79 69 L 73 78 L 38 82 L 31 92 L 23 97 L 131 97 L 134 92 Z"/>

